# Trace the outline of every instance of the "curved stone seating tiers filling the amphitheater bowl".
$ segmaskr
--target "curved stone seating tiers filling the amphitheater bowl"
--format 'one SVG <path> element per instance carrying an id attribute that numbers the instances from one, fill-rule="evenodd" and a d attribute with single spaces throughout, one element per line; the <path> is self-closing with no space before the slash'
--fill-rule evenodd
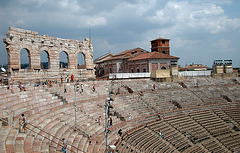
<path id="1" fill-rule="evenodd" d="M 210 79 L 202 80 L 202 82 L 209 82 L 209 80 Z M 210 82 L 211 81 L 212 80 L 210 80 Z M 238 141 L 236 141 L 236 143 L 230 143 L 233 142 L 235 138 L 239 138 L 239 134 L 226 122 L 226 119 L 228 119 L 228 121 L 231 121 L 235 125 L 239 125 L 239 104 L 234 101 L 238 99 L 238 95 L 234 92 L 226 92 L 232 91 L 232 89 L 239 89 L 239 85 L 232 83 L 232 80 L 212 81 L 211 83 L 216 86 L 216 90 L 214 90 L 214 87 L 205 87 L 204 83 L 201 84 L 199 88 L 188 87 L 189 89 L 183 89 L 178 83 L 155 83 L 146 79 L 127 82 L 117 80 L 114 82 L 117 82 L 113 86 L 114 90 L 117 90 L 118 87 L 125 89 L 122 85 L 126 85 L 131 88 L 134 93 L 129 94 L 126 90 L 124 94 L 113 95 L 115 99 L 113 102 L 114 110 L 126 120 L 128 120 L 128 112 L 131 112 L 132 120 L 130 122 L 123 122 L 115 116 L 112 117 L 114 126 L 109 135 L 110 143 L 114 143 L 117 140 L 117 131 L 120 127 L 122 127 L 124 131 L 127 131 L 136 126 L 145 125 L 158 119 L 156 113 L 159 112 L 161 112 L 162 115 L 164 114 L 163 118 L 165 118 L 165 121 L 160 121 L 160 127 L 163 128 L 163 133 L 166 134 L 163 140 L 158 141 L 158 132 L 150 128 L 157 128 L 157 124 L 156 127 L 154 124 L 149 125 L 144 127 L 145 133 L 142 135 L 134 134 L 133 130 L 136 139 L 129 138 L 129 141 L 131 140 L 129 142 L 127 141 L 128 137 L 126 137 L 126 140 L 122 141 L 123 146 L 125 146 L 123 147 L 124 151 L 152 152 L 155 150 L 165 150 L 191 152 L 195 150 L 201 152 L 218 150 L 229 152 L 239 145 Z M 141 82 L 144 82 L 144 85 L 141 85 Z M 96 86 L 95 92 L 92 91 L 93 84 Z M 16 91 L 15 94 L 3 89 L 4 94 L 0 95 L 2 96 L 0 108 L 5 111 L 15 112 L 13 128 L 1 128 L 1 130 L 8 129 L 6 130 L 5 138 L 3 136 L 3 142 L 5 142 L 3 151 L 56 152 L 61 150 L 62 142 L 60 139 L 63 137 L 68 140 L 70 145 L 69 149 L 72 151 L 76 151 L 75 147 L 85 152 L 104 151 L 104 127 L 99 126 L 96 119 L 99 115 L 102 115 L 104 118 L 104 103 L 108 95 L 108 89 L 110 89 L 110 84 L 111 81 L 84 82 L 84 92 L 77 94 L 77 124 L 80 130 L 85 130 L 84 132 L 93 136 L 91 145 L 89 145 L 87 137 L 79 135 L 79 133 L 73 130 L 73 83 L 65 84 L 68 88 L 67 93 L 64 93 L 64 85 L 53 85 L 52 87 L 28 87 L 26 85 L 27 91 L 20 92 L 19 89 L 16 89 L 18 91 Z M 153 90 L 153 84 L 156 84 L 156 90 Z M 224 86 L 226 90 L 223 90 L 221 85 Z M 206 92 L 201 90 L 206 90 Z M 139 97 L 137 95 L 140 91 L 144 91 L 144 96 Z M 196 94 L 193 92 L 196 92 Z M 202 95 L 197 92 L 206 93 L 205 96 L 208 98 L 206 98 L 205 101 L 208 102 L 203 102 Z M 207 94 L 207 92 L 210 94 Z M 233 102 L 222 98 L 221 93 L 227 95 Z M 177 108 L 176 103 L 173 103 L 172 100 L 180 104 L 183 109 Z M 211 103 L 210 100 L 216 102 Z M 189 105 L 187 105 L 188 101 Z M 190 101 L 193 102 L 191 103 Z M 218 105 L 212 105 L 214 103 Z M 207 106 L 206 104 L 211 104 L 211 106 Z M 211 109 L 208 110 L 207 108 Z M 205 109 L 208 111 L 205 111 Z M 31 124 L 37 125 L 39 129 L 46 130 L 47 133 L 52 134 L 54 137 L 47 136 L 43 131 L 31 127 L 27 134 L 18 133 L 18 118 L 21 113 L 27 114 L 28 121 Z M 169 118 L 171 114 L 174 117 Z M 179 114 L 180 116 L 178 116 Z M 142 119 L 139 120 L 138 118 Z M 208 123 L 208 120 L 211 120 L 212 124 Z M 188 123 L 189 126 L 184 124 L 184 122 Z M 131 123 L 131 125 L 127 123 Z M 215 126 L 213 126 L 213 124 Z M 194 130 L 195 128 L 202 131 L 202 133 Z M 34 133 L 34 131 L 36 133 Z M 186 132 L 191 135 L 187 135 Z M 226 138 L 226 142 L 223 141 L 224 139 L 221 139 L 222 137 Z M 154 138 L 154 143 L 151 143 L 150 138 Z M 197 141 L 195 141 L 196 138 Z M 136 140 L 136 142 L 133 140 Z M 56 143 L 54 143 L 55 141 Z M 131 143 L 134 146 L 131 145 Z M 196 143 L 200 143 L 200 145 L 196 146 Z"/>

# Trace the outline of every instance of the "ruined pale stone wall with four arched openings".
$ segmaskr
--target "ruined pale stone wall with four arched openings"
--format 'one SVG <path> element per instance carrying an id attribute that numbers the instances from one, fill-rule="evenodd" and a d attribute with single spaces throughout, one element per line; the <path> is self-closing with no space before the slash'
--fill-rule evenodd
<path id="1" fill-rule="evenodd" d="M 3 39 L 8 52 L 9 78 L 14 80 L 59 80 L 67 75 L 75 79 L 95 78 L 93 46 L 88 38 L 84 41 L 61 39 L 38 35 L 38 32 L 10 27 Z M 26 49 L 29 55 L 29 68 L 21 69 L 20 51 Z M 48 54 L 48 69 L 41 69 L 41 52 Z M 60 68 L 60 53 L 68 56 L 68 68 Z M 78 69 L 78 54 L 85 58 L 85 68 Z"/>

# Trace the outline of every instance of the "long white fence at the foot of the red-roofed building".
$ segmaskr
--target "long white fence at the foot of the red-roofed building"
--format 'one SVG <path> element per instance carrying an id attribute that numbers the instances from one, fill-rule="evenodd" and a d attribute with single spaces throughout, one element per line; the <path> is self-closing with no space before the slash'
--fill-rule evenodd
<path id="1" fill-rule="evenodd" d="M 109 79 L 150 78 L 150 73 L 111 73 Z"/>

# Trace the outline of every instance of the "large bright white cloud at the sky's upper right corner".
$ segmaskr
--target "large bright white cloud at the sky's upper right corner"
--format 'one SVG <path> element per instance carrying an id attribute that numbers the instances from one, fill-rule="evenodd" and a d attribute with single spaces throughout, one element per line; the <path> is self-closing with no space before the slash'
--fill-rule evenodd
<path id="1" fill-rule="evenodd" d="M 189 3 L 170 1 L 163 9 L 157 10 L 149 21 L 177 31 L 203 30 L 212 34 L 240 30 L 240 19 L 230 19 L 224 10 L 214 3 Z"/>

